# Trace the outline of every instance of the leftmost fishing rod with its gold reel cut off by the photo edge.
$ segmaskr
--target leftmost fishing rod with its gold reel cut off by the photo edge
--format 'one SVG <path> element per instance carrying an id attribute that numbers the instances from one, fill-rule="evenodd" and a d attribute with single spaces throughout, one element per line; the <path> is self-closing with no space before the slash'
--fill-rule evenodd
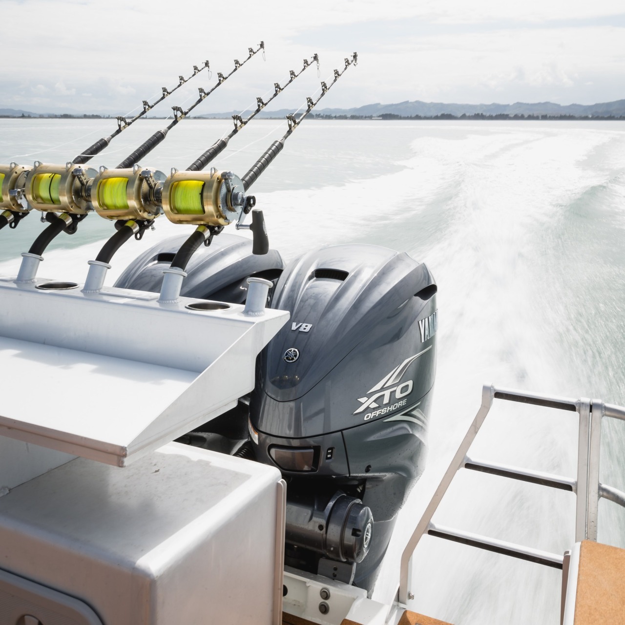
<path id="1" fill-rule="evenodd" d="M 126 128 L 132 126 L 138 119 L 148 113 L 148 111 L 151 111 L 151 109 L 153 109 L 157 104 L 160 104 L 165 98 L 171 96 L 176 89 L 181 88 L 183 84 L 189 82 L 194 76 L 197 76 L 197 74 L 205 68 L 210 72 L 210 64 L 208 61 L 204 61 L 204 65 L 201 68 L 194 65 L 193 73 L 189 76 L 189 78 L 184 78 L 182 75 L 178 76 L 179 83 L 173 89 L 162 87 L 161 89 L 163 94 L 161 97 L 152 104 L 150 104 L 147 100 L 144 100 L 143 111 L 134 116 L 134 118 L 126 119 L 123 116 L 116 118 L 118 123 L 117 130 L 108 137 L 98 139 L 96 143 L 89 146 L 89 148 L 84 150 L 81 154 L 78 154 L 78 156 L 74 157 L 71 163 L 82 165 L 90 161 L 94 156 L 96 156 L 96 154 L 103 151 L 103 149 L 106 148 L 116 136 L 123 133 Z M 8 167 L 0 165 L 0 209 L 4 209 L 4 211 L 0 212 L 0 230 L 4 226 L 16 228 L 19 222 L 30 213 L 31 206 L 28 204 L 24 191 L 26 187 L 26 178 L 29 176 L 31 171 L 31 166 L 17 165 L 17 163 L 11 163 Z M 50 196 L 49 199 L 54 204 L 59 204 L 60 198 L 58 196 L 58 187 L 59 183 L 57 179 L 51 179 L 46 195 Z"/>

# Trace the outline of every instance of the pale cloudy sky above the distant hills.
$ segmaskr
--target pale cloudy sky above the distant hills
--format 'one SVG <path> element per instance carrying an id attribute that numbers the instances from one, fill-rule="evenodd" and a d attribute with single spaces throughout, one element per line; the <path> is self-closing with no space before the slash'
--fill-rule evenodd
<path id="1" fill-rule="evenodd" d="M 318 53 L 319 76 L 308 69 L 272 103 L 295 110 L 354 51 L 357 67 L 319 109 L 625 98 L 622 0 L 0 0 L 0 11 L 0 108 L 35 113 L 130 114 L 208 59 L 212 77 L 202 72 L 154 109 L 166 116 L 261 40 L 265 58 L 252 58 L 196 114 L 255 106 Z"/>

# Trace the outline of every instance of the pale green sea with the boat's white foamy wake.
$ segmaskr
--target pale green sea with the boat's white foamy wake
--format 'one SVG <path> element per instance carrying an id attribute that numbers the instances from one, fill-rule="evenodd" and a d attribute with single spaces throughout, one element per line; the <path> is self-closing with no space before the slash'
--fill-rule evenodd
<path id="1" fill-rule="evenodd" d="M 114 120 L 0 120 L 0 163 L 65 163 Z M 166 122 L 139 121 L 89 164 L 109 168 Z M 185 121 L 142 164 L 186 168 L 228 121 Z M 256 121 L 217 159 L 241 175 L 280 121 Z M 625 404 L 625 123 L 316 121 L 302 124 L 252 187 L 286 261 L 324 244 L 369 243 L 427 263 L 438 284 L 438 356 L 426 472 L 401 512 L 374 598 L 389 601 L 398 559 L 475 416 L 482 384 Z M 62 234 L 39 274 L 84 281 L 110 224 Z M 0 274 L 44 227 L 0 233 Z M 139 253 L 192 227 L 164 217 L 114 257 L 108 283 Z M 36 386 L 36 380 L 31 381 Z M 366 389 L 365 389 L 366 390 Z M 574 478 L 577 420 L 496 401 L 470 451 Z M 625 489 L 625 423 L 604 424 L 601 481 Z M 562 554 L 575 496 L 461 471 L 437 524 Z M 599 539 L 625 547 L 625 511 L 599 505 Z M 457 625 L 556 623 L 561 572 L 426 536 L 412 560 L 412 609 Z"/>

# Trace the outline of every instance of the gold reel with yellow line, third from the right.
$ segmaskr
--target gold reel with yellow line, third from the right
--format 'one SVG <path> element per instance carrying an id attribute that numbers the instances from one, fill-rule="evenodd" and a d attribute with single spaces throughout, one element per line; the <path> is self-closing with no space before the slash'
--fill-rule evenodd
<path id="1" fill-rule="evenodd" d="M 95 169 L 67 163 L 46 165 L 35 161 L 26 179 L 26 199 L 32 208 L 43 212 L 70 212 L 84 215 L 93 211 L 89 197 L 89 179 Z"/>

